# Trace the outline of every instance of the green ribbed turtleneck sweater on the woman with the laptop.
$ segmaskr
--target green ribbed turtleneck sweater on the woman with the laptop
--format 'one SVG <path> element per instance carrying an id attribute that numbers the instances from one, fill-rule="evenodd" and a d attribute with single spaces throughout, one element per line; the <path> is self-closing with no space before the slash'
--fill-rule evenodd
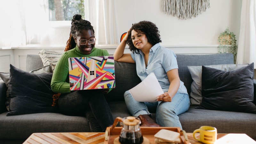
<path id="1" fill-rule="evenodd" d="M 53 92 L 68 93 L 70 92 L 69 76 L 68 76 L 68 58 L 74 57 L 92 57 L 92 56 L 108 56 L 107 50 L 93 48 L 92 53 L 85 55 L 79 51 L 76 46 L 67 52 L 64 52 L 60 60 L 58 60 L 52 75 L 51 87 Z"/>

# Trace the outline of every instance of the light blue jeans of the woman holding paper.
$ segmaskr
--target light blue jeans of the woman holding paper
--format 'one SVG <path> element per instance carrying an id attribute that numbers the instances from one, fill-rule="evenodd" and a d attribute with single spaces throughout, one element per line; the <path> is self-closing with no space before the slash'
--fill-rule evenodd
<path id="1" fill-rule="evenodd" d="M 167 92 L 168 89 L 164 89 Z M 188 110 L 190 101 L 186 93 L 176 93 L 172 102 L 138 102 L 134 100 L 131 93 L 124 93 L 124 100 L 132 116 L 150 115 L 150 112 L 156 113 L 156 123 L 165 127 L 180 127 L 178 115 Z"/>

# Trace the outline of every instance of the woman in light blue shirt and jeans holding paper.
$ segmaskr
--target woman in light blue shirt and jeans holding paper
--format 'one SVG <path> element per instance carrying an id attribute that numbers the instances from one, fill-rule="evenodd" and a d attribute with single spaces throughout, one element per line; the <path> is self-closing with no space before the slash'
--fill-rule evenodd
<path id="1" fill-rule="evenodd" d="M 150 21 L 140 21 L 132 25 L 118 45 L 114 59 L 119 62 L 136 63 L 137 75 L 143 81 L 154 72 L 164 93 L 156 102 L 138 102 L 131 93 L 124 93 L 125 103 L 132 116 L 139 117 L 141 126 L 181 127 L 178 115 L 189 108 L 186 87 L 180 81 L 175 53 L 162 47 L 156 25 Z M 126 43 L 131 53 L 124 54 Z M 156 123 L 150 112 L 156 113 Z"/>

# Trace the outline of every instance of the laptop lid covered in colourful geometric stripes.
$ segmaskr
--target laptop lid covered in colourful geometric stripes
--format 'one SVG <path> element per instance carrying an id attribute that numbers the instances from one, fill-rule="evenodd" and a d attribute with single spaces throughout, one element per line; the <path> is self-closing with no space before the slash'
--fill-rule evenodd
<path id="1" fill-rule="evenodd" d="M 115 88 L 113 56 L 68 58 L 70 90 Z"/>

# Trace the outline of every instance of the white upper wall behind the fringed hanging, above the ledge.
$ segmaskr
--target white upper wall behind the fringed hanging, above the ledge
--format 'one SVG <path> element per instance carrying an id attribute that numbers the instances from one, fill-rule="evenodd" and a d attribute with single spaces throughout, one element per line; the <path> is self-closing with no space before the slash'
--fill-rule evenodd
<path id="1" fill-rule="evenodd" d="M 187 20 L 162 12 L 160 0 L 116 0 L 115 4 L 120 35 L 132 23 L 148 20 L 159 28 L 162 45 L 219 44 L 218 36 L 226 27 L 239 37 L 242 0 L 211 0 L 209 9 Z"/>

